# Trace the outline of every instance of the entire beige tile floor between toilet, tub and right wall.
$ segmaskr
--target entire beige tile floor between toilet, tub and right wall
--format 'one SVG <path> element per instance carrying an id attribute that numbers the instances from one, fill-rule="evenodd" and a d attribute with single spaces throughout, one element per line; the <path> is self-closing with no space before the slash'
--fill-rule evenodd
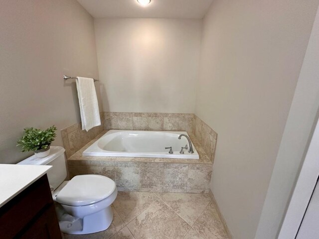
<path id="1" fill-rule="evenodd" d="M 65 239 L 228 239 L 205 194 L 119 192 L 104 232 Z"/>

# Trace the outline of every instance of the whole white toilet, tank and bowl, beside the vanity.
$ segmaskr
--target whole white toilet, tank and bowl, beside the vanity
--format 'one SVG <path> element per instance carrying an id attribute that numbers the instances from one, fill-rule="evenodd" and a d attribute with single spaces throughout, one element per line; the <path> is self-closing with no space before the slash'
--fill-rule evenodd
<path id="1" fill-rule="evenodd" d="M 60 229 L 67 234 L 90 234 L 106 230 L 112 223 L 111 204 L 118 194 L 115 182 L 101 175 L 67 175 L 63 147 L 50 147 L 44 158 L 35 155 L 18 164 L 52 165 L 47 172 Z"/>

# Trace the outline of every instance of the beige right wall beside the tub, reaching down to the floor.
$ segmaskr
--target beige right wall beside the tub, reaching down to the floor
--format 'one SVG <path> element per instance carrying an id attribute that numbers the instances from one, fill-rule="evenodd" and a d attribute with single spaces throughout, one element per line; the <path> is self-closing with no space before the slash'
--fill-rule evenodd
<path id="1" fill-rule="evenodd" d="M 215 0 L 204 18 L 195 114 L 218 133 L 212 191 L 253 239 L 318 0 Z"/>

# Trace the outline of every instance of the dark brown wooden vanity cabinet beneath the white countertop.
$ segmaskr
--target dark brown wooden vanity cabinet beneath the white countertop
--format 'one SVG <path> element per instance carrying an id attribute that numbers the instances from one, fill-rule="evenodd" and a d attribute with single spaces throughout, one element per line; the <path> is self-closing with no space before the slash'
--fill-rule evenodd
<path id="1" fill-rule="evenodd" d="M 46 174 L 0 208 L 0 239 L 62 239 Z"/>

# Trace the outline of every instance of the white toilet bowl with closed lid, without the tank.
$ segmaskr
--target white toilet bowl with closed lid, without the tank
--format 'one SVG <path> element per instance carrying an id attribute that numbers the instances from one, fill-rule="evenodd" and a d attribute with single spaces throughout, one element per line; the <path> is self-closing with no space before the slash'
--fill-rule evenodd
<path id="1" fill-rule="evenodd" d="M 60 230 L 67 234 L 90 234 L 112 223 L 111 204 L 117 196 L 115 182 L 101 175 L 78 175 L 53 191 Z"/>

